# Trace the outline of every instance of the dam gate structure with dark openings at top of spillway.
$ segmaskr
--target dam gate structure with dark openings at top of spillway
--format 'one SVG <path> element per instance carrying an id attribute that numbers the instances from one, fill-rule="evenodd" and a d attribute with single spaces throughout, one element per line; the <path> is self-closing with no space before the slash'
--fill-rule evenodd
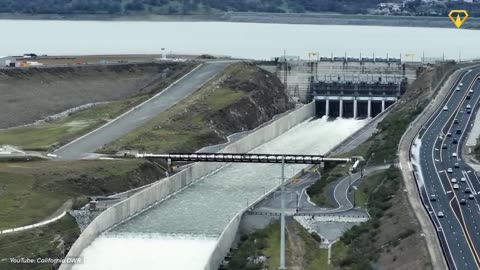
<path id="1" fill-rule="evenodd" d="M 395 103 L 407 81 L 315 81 L 310 79 L 309 99 L 317 116 L 371 118 Z"/>

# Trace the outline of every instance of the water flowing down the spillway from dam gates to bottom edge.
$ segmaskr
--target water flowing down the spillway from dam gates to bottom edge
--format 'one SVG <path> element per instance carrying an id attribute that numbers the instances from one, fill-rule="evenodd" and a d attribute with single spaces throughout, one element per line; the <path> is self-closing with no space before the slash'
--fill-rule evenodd
<path id="1" fill-rule="evenodd" d="M 307 120 L 253 152 L 323 154 L 366 122 Z M 288 165 L 286 176 L 304 167 Z M 225 165 L 97 238 L 74 269 L 203 269 L 230 218 L 277 186 L 279 176 L 279 164 Z"/>

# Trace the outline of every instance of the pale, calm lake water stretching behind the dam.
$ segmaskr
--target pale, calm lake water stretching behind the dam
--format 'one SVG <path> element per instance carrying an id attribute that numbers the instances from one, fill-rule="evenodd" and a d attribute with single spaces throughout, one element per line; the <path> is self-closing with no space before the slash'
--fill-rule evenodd
<path id="1" fill-rule="evenodd" d="M 445 18 L 448 20 L 448 18 Z M 254 59 L 287 55 L 480 57 L 480 31 L 452 28 L 0 20 L 0 55 L 210 53 Z"/>

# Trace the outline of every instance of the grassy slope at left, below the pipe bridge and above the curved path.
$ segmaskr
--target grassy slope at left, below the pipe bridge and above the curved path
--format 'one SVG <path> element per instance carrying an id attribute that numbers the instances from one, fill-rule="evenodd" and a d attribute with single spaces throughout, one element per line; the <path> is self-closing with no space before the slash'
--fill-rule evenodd
<path id="1" fill-rule="evenodd" d="M 39 222 L 68 199 L 80 204 L 84 196 L 125 191 L 162 175 L 139 160 L 0 163 L 0 229 Z"/>

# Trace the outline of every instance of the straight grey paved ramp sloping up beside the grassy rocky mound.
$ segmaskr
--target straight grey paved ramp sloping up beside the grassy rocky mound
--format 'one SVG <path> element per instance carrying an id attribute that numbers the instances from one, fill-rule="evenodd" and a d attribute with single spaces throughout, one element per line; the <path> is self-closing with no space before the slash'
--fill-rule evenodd
<path id="1" fill-rule="evenodd" d="M 60 159 L 81 159 L 122 135 L 142 126 L 159 113 L 198 90 L 222 71 L 229 62 L 208 62 L 200 65 L 153 98 L 110 121 L 104 126 L 54 151 Z"/>

